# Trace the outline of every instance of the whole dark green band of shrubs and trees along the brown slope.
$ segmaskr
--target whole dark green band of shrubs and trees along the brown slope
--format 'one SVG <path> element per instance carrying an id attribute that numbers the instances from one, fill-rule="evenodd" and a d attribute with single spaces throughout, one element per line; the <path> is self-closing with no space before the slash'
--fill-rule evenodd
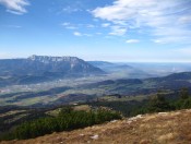
<path id="1" fill-rule="evenodd" d="M 178 97 L 175 99 L 169 98 L 163 91 L 142 100 L 122 101 L 121 96 L 117 97 L 119 100 L 107 101 L 97 99 L 96 101 L 88 101 L 86 105 L 82 105 L 88 107 L 88 110 L 74 110 L 75 108 L 73 109 L 73 107 L 69 106 L 62 108 L 44 108 L 38 111 L 34 109 L 25 109 L 24 111 L 23 109 L 17 109 L 17 113 L 13 112 L 14 115 L 11 115 L 7 112 L 10 108 L 7 110 L 3 109 L 5 111 L 3 112 L 3 110 L 1 110 L 1 113 L 5 113 L 7 116 L 4 115 L 4 117 L 2 117 L 3 115 L 0 115 L 1 130 L 4 130 L 0 133 L 0 140 L 33 139 L 52 132 L 71 131 L 114 119 L 121 119 L 121 115 L 124 117 L 133 117 L 143 113 L 191 108 L 189 88 L 181 88 Z M 26 112 L 28 112 L 28 116 L 21 118 L 17 122 L 8 124 L 4 119 L 7 117 L 14 119 L 14 117 L 20 117 L 20 115 Z M 5 124 L 9 127 L 5 127 Z M 5 128 L 9 128 L 7 129 L 9 132 L 5 132 Z"/>

